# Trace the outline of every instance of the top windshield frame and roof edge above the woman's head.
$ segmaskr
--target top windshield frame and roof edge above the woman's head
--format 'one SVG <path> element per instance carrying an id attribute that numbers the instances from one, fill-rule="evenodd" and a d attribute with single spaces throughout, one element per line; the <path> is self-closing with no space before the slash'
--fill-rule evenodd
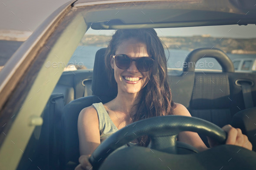
<path id="1" fill-rule="evenodd" d="M 100 8 L 96 11 L 82 12 L 83 16 L 91 16 L 86 21 L 92 22 L 92 29 L 98 30 L 256 24 L 256 8 L 252 1 L 78 0 L 73 5 L 81 11 L 86 6 L 92 9 L 98 5 Z M 102 10 L 104 7 L 109 9 Z M 113 13 L 115 10 L 118 15 Z"/>

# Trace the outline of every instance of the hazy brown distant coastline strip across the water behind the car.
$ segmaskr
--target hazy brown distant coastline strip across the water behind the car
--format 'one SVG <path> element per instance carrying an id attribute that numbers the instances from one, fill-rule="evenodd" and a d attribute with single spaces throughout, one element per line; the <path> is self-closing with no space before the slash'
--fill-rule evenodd
<path id="1" fill-rule="evenodd" d="M 0 40 L 26 41 L 31 34 L 30 31 L 0 30 Z M 196 48 L 214 47 L 227 54 L 256 54 L 256 38 L 215 38 L 210 35 L 160 38 L 169 49 L 192 51 Z M 110 35 L 85 35 L 79 45 L 107 47 L 110 39 Z"/>

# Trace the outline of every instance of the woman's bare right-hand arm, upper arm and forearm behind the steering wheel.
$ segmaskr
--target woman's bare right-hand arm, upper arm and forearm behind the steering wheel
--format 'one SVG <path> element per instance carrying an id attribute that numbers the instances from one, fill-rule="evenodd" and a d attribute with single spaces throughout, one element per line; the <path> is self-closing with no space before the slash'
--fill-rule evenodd
<path id="1" fill-rule="evenodd" d="M 178 104 L 178 103 L 175 103 L 175 104 L 176 104 L 176 107 L 173 112 L 174 115 L 191 117 L 186 107 L 184 107 L 182 104 Z M 204 145 L 202 139 L 199 137 L 199 135 L 196 132 L 189 132 L 189 131 L 180 132 L 178 135 L 178 140 L 181 142 L 187 143 L 191 146 L 194 146 L 199 151 L 204 151 L 208 149 L 207 146 Z"/>

